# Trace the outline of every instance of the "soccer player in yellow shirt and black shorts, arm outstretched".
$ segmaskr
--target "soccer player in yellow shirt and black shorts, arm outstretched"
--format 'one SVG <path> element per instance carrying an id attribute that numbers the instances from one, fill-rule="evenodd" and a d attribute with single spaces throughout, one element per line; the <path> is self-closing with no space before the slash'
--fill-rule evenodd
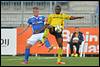
<path id="1" fill-rule="evenodd" d="M 58 59 L 57 59 L 57 64 L 63 64 L 63 62 L 61 62 L 61 56 L 62 56 L 62 52 L 63 52 L 63 37 L 62 37 L 62 31 L 61 32 L 56 32 L 55 31 L 55 27 L 57 25 L 61 25 L 64 29 L 64 20 L 74 20 L 74 19 L 81 19 L 83 17 L 74 17 L 74 16 L 70 16 L 67 14 L 61 14 L 61 7 L 59 5 L 57 5 L 55 7 L 55 14 L 50 14 L 47 18 L 47 26 L 49 28 L 49 32 L 55 36 L 59 49 L 58 49 Z"/>

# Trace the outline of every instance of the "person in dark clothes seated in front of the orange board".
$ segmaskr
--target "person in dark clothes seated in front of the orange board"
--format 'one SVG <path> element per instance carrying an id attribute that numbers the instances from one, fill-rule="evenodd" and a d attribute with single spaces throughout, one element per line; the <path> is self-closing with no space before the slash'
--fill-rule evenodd
<path id="1" fill-rule="evenodd" d="M 84 41 L 84 36 L 83 33 L 80 32 L 79 27 L 75 27 L 75 32 L 73 32 L 71 40 L 69 42 L 70 44 L 70 51 L 71 51 L 71 56 L 79 56 L 79 47 L 82 43 L 82 41 Z M 74 54 L 73 51 L 73 45 L 76 46 L 76 53 Z"/>

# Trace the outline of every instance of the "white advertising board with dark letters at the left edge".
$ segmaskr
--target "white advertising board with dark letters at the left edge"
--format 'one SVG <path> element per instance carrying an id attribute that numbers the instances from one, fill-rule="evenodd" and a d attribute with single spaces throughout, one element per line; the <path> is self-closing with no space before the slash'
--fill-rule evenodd
<path id="1" fill-rule="evenodd" d="M 1 29 L 1 55 L 16 55 L 16 29 Z"/>

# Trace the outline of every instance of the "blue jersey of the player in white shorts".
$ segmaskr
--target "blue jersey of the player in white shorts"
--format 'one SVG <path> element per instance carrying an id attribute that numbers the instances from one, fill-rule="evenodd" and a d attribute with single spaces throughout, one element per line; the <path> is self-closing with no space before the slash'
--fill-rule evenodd
<path id="1" fill-rule="evenodd" d="M 39 15 L 38 17 L 32 16 L 28 19 L 28 24 L 32 25 L 33 33 L 34 31 L 39 31 L 44 26 L 45 17 Z M 41 31 L 41 33 L 44 32 Z"/>

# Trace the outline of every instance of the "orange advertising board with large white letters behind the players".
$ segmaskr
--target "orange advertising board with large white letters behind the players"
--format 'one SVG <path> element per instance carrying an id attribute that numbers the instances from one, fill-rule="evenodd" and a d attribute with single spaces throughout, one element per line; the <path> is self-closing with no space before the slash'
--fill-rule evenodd
<path id="1" fill-rule="evenodd" d="M 25 45 L 27 44 L 27 39 L 32 35 L 32 30 L 29 28 L 25 33 L 18 35 L 22 32 L 24 28 L 17 28 L 17 54 L 24 54 Z M 63 50 L 66 53 L 67 42 L 69 40 L 72 32 L 75 31 L 75 28 L 65 28 L 63 31 Z M 80 31 L 84 34 L 85 39 L 85 53 L 86 54 L 99 54 L 99 28 L 80 28 Z M 56 39 L 53 35 L 49 34 L 48 39 L 51 45 L 54 45 L 54 49 L 51 52 L 48 52 L 48 48 L 43 45 L 38 47 L 40 44 L 37 42 L 34 46 L 31 47 L 31 54 L 56 54 L 58 45 Z"/>

